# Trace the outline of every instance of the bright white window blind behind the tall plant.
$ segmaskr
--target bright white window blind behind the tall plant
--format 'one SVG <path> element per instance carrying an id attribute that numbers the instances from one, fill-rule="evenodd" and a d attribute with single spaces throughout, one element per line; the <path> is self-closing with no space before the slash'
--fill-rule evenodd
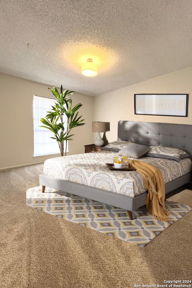
<path id="1" fill-rule="evenodd" d="M 44 156 L 60 153 L 58 142 L 50 137 L 55 137 L 52 131 L 39 127 L 43 125 L 40 121 L 45 118 L 47 112 L 52 110 L 55 100 L 34 95 L 33 97 L 33 118 L 34 118 L 34 156 Z M 63 116 L 65 131 L 67 129 L 67 116 Z M 68 141 L 67 141 L 68 142 Z M 65 151 L 66 141 L 64 141 Z M 68 143 L 67 143 L 68 152 Z"/>

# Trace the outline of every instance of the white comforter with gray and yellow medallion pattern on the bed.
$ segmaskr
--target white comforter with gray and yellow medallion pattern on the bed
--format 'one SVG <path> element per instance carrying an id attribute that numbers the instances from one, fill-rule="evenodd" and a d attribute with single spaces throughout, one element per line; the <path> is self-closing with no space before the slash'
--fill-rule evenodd
<path id="1" fill-rule="evenodd" d="M 44 174 L 58 179 L 104 189 L 131 197 L 146 192 L 143 176 L 136 171 L 110 170 L 105 163 L 113 163 L 117 152 L 100 151 L 64 157 L 51 158 L 44 163 Z M 190 158 L 175 160 L 142 157 L 140 161 L 147 162 L 159 170 L 164 182 L 170 182 L 192 170 Z"/>

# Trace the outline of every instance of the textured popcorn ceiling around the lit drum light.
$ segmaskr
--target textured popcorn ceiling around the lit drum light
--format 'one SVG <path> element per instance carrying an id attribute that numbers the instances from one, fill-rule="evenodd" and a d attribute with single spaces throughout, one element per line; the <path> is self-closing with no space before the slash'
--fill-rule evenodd
<path id="1" fill-rule="evenodd" d="M 192 66 L 191 0 L 1 0 L 0 16 L 11 76 L 95 96 Z"/>

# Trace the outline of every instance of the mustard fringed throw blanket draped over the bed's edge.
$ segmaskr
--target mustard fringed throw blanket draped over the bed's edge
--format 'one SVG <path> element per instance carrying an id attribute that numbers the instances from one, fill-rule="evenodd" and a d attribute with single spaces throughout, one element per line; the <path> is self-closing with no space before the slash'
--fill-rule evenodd
<path id="1" fill-rule="evenodd" d="M 171 213 L 165 209 L 165 184 L 161 171 L 142 161 L 130 160 L 129 164 L 143 175 L 144 186 L 148 189 L 146 196 L 147 210 L 155 219 L 170 221 L 166 216 L 166 214 Z"/>

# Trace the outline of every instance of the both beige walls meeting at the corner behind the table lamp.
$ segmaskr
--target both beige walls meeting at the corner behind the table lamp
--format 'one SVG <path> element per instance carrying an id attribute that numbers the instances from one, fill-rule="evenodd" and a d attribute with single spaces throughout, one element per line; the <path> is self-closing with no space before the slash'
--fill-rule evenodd
<path id="1" fill-rule="evenodd" d="M 117 140 L 119 120 L 173 122 L 192 124 L 192 67 L 121 88 L 97 97 L 75 93 L 73 104 L 81 102 L 79 115 L 86 125 L 74 128 L 69 141 L 69 155 L 84 152 L 84 145 L 94 143 L 92 121 L 110 122 L 109 142 Z M 0 74 L 0 169 L 44 162 L 47 157 L 33 158 L 33 95 L 52 97 L 47 86 Z M 134 115 L 134 94 L 187 93 L 188 117 Z M 102 134 L 101 134 L 102 136 Z"/>

